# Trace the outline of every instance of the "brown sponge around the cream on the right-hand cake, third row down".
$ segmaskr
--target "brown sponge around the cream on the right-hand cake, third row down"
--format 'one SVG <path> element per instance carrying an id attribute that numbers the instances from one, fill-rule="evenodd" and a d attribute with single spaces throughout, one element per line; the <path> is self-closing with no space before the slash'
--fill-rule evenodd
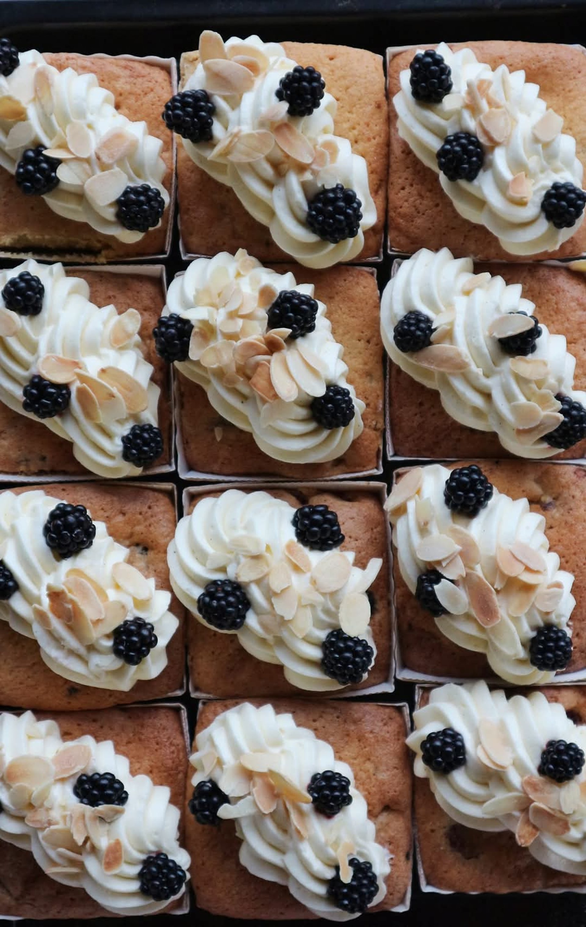
<path id="1" fill-rule="evenodd" d="M 472 462 L 468 462 L 472 463 Z M 446 464 L 453 469 L 466 463 Z M 560 568 L 575 577 L 572 594 L 572 659 L 568 671 L 586 667 L 586 512 L 582 499 L 586 489 L 586 467 L 572 464 L 532 464 L 515 461 L 483 461 L 482 471 L 492 484 L 512 499 L 526 497 L 531 511 L 545 517 L 550 550 L 560 557 Z M 405 667 L 431 676 L 468 679 L 493 677 L 483 654 L 458 647 L 437 628 L 433 617 L 407 589 L 394 556 L 393 578 L 399 648 Z M 560 681 L 562 676 L 556 676 Z"/>

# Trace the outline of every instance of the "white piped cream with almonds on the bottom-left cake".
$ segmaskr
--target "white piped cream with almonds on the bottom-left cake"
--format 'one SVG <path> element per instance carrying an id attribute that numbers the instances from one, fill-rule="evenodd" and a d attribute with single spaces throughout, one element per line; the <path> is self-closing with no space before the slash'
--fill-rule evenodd
<path id="1" fill-rule="evenodd" d="M 166 853 L 185 871 L 190 865 L 178 842 L 180 811 L 169 804 L 166 785 L 132 776 L 111 741 L 84 735 L 64 743 L 55 721 L 37 721 L 30 711 L 0 715 L 0 757 L 0 839 L 29 850 L 51 879 L 83 889 L 113 914 L 167 908 L 168 901 L 143 895 L 139 879 L 151 854 Z M 78 776 L 94 772 L 122 781 L 124 806 L 78 801 Z"/>

